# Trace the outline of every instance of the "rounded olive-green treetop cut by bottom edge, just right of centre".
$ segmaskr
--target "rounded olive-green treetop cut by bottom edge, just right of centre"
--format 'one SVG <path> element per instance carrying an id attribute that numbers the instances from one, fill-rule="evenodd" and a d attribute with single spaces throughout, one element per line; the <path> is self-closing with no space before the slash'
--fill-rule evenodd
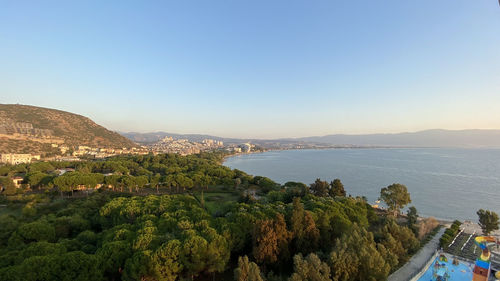
<path id="1" fill-rule="evenodd" d="M 288 281 L 330 281 L 330 267 L 314 253 L 305 259 L 302 254 L 293 257 L 294 273 Z"/>

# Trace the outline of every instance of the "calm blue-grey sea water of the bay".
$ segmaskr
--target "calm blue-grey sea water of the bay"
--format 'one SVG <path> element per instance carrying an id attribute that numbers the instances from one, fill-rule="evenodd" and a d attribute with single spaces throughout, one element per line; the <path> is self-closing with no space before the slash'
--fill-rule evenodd
<path id="1" fill-rule="evenodd" d="M 235 156 L 224 165 L 279 183 L 340 178 L 348 194 L 370 203 L 382 187 L 402 183 L 424 216 L 476 221 L 480 208 L 500 214 L 500 149 L 288 150 Z"/>

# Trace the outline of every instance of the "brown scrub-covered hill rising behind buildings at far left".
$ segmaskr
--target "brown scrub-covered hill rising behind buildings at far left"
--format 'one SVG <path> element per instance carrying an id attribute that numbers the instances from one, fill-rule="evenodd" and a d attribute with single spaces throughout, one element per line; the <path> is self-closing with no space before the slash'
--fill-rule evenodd
<path id="1" fill-rule="evenodd" d="M 0 153 L 49 152 L 54 151 L 53 144 L 102 148 L 137 146 L 85 116 L 19 104 L 0 104 L 0 139 Z"/>

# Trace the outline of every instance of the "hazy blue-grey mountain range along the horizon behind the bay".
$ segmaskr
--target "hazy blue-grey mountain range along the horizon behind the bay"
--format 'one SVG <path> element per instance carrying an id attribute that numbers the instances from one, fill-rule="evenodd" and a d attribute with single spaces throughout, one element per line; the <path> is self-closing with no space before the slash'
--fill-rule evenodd
<path id="1" fill-rule="evenodd" d="M 211 135 L 156 133 L 121 133 L 139 143 L 153 143 L 169 136 L 174 139 L 202 141 L 203 139 L 220 140 L 225 143 L 251 142 L 264 147 L 284 145 L 318 146 L 384 146 L 384 147 L 497 147 L 500 148 L 500 130 L 426 130 L 412 133 L 365 134 L 313 136 L 282 139 L 238 139 Z"/>

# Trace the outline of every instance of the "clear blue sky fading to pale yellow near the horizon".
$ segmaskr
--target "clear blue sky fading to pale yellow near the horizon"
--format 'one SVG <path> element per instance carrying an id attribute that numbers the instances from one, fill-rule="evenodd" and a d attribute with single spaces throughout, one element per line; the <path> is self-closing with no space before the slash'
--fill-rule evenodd
<path id="1" fill-rule="evenodd" d="M 126 132 L 500 129 L 500 5 L 0 0 L 0 103 Z"/>

